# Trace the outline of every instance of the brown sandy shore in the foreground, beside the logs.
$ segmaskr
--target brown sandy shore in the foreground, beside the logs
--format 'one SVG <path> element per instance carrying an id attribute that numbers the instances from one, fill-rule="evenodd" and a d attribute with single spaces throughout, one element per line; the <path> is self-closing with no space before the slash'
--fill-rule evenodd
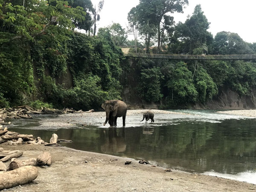
<path id="1" fill-rule="evenodd" d="M 256 185 L 191 174 L 139 164 L 137 160 L 42 145 L 3 145 L 21 150 L 19 159 L 37 157 L 42 151 L 52 155 L 52 165 L 38 167 L 32 183 L 7 189 L 7 192 L 251 192 Z M 132 163 L 125 165 L 127 160 Z M 87 163 L 86 163 L 87 162 Z M 8 165 L 9 162 L 6 163 Z"/>

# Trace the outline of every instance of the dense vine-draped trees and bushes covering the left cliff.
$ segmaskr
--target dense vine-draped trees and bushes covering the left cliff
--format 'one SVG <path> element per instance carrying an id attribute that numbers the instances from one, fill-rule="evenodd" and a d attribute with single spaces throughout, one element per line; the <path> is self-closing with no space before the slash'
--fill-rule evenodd
<path id="1" fill-rule="evenodd" d="M 92 26 L 90 0 L 12 3 L 0 0 L 1 107 L 41 97 L 55 107 L 90 109 L 121 99 L 121 51 L 104 38 L 73 32 Z"/>

